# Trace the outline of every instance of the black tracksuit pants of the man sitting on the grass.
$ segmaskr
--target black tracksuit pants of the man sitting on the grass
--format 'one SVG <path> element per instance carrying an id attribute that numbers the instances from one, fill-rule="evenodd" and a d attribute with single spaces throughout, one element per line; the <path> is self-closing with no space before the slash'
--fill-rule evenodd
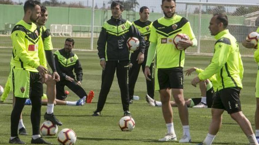
<path id="1" fill-rule="evenodd" d="M 67 98 L 67 94 L 65 94 L 65 90 L 64 90 L 65 86 L 67 86 L 70 90 L 72 90 L 75 94 L 77 94 L 79 98 L 83 98 L 84 96 L 87 97 L 87 94 L 84 91 L 84 89 L 81 86 L 77 85 L 77 81 L 71 82 L 71 81 L 63 80 L 56 83 L 56 90 L 57 90 L 56 98 L 58 100 L 65 100 Z"/>

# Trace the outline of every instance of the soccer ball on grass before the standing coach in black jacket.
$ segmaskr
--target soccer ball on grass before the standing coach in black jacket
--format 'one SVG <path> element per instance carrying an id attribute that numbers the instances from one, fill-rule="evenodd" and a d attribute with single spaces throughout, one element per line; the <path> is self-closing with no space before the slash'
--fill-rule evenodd
<path id="1" fill-rule="evenodd" d="M 119 120 L 119 127 L 122 131 L 132 131 L 135 127 L 135 121 L 132 117 L 124 116 Z"/>

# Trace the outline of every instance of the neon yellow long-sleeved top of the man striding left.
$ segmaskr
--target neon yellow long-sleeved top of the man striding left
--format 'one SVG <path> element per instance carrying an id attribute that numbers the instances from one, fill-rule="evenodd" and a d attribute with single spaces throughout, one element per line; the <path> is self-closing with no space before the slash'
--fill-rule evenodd
<path id="1" fill-rule="evenodd" d="M 239 52 L 238 42 L 228 30 L 223 30 L 215 35 L 214 55 L 211 63 L 198 77 L 205 80 L 216 75 L 218 91 L 223 88 L 242 86 L 243 62 Z"/>

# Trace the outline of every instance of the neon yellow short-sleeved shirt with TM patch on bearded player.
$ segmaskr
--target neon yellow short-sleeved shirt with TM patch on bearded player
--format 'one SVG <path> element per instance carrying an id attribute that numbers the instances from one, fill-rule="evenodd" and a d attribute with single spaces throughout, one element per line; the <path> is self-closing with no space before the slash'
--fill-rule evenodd
<path id="1" fill-rule="evenodd" d="M 185 51 L 175 48 L 173 39 L 178 33 L 184 33 L 190 40 L 195 38 L 190 22 L 181 16 L 175 15 L 170 19 L 164 17 L 154 21 L 149 41 L 157 44 L 156 68 L 183 67 Z"/>

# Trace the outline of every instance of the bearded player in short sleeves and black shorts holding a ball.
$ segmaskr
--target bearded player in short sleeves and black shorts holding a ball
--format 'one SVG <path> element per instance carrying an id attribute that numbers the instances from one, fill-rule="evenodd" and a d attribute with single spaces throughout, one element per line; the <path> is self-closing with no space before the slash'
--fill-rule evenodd
<path id="1" fill-rule="evenodd" d="M 183 66 L 185 51 L 177 50 L 172 43 L 177 33 L 185 33 L 190 40 L 180 41 L 180 47 L 192 47 L 197 45 L 197 40 L 192 32 L 190 22 L 175 14 L 175 0 L 162 0 L 161 8 L 164 17 L 154 21 L 150 33 L 150 47 L 147 54 L 145 77 L 149 79 L 150 64 L 156 52 L 155 90 L 159 90 L 162 102 L 162 112 L 167 126 L 167 134 L 159 141 L 176 141 L 173 125 L 173 113 L 170 105 L 171 91 L 177 107 L 183 127 L 181 143 L 191 141 L 188 120 L 188 109 L 183 97 Z"/>

